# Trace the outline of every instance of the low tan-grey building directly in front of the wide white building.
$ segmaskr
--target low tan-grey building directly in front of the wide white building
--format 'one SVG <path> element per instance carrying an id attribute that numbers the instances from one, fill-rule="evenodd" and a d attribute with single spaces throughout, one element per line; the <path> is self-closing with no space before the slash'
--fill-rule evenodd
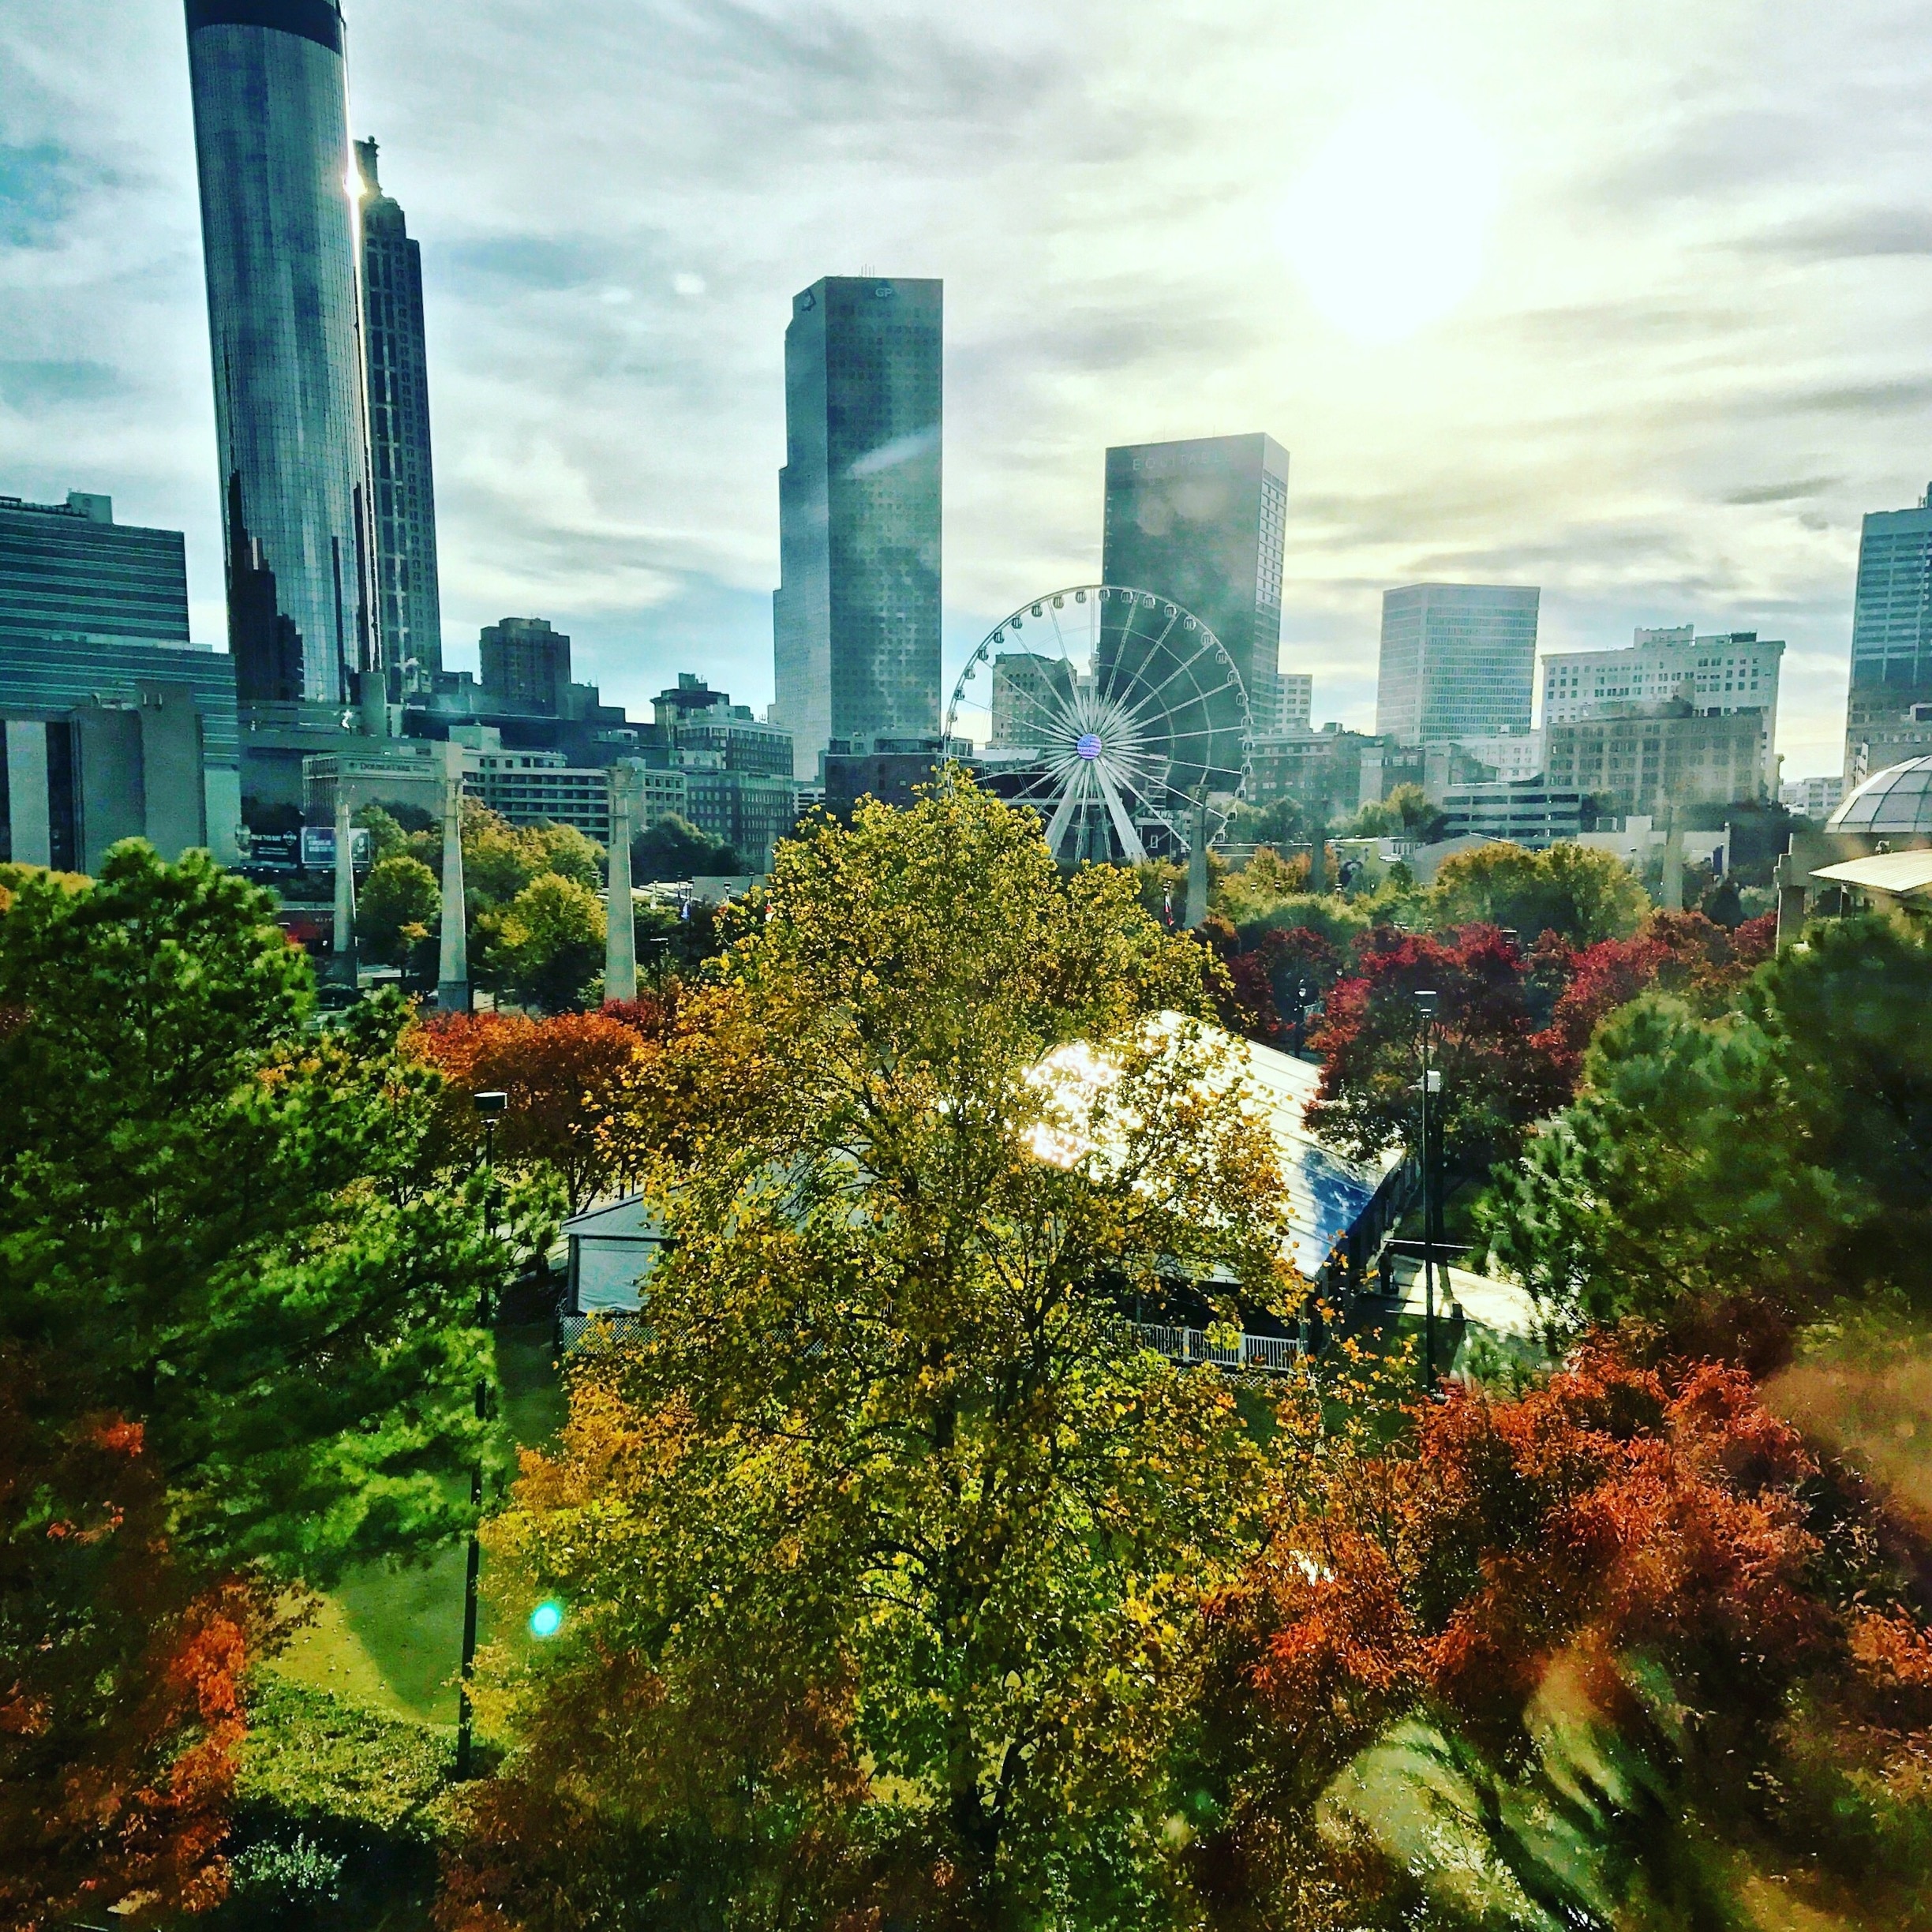
<path id="1" fill-rule="evenodd" d="M 1673 701 L 1621 717 L 1573 719 L 1544 728 L 1544 777 L 1596 798 L 1605 813 L 1673 806 L 1735 806 L 1766 796 L 1762 719 L 1706 713 Z"/>

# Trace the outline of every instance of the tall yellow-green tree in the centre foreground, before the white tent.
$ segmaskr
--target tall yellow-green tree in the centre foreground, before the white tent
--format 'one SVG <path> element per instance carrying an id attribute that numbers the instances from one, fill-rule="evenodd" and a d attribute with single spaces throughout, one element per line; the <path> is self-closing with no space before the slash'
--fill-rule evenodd
<path id="1" fill-rule="evenodd" d="M 784 844 L 697 1005 L 649 1321 L 495 1530 L 510 1605 L 570 1613 L 450 1922 L 1155 1911 L 1163 1660 L 1264 1488 L 1132 1308 L 1273 1296 L 1285 1236 L 1265 1136 L 1153 1026 L 1198 949 L 947 784 Z"/>

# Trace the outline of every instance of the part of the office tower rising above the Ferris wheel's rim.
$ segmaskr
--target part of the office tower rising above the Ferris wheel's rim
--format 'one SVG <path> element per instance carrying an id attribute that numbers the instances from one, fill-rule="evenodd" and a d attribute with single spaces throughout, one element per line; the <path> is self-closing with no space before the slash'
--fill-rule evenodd
<path id="1" fill-rule="evenodd" d="M 1107 450 L 1101 576 L 1198 616 L 1227 647 L 1256 734 L 1283 730 L 1281 551 L 1289 452 L 1273 437 Z"/>

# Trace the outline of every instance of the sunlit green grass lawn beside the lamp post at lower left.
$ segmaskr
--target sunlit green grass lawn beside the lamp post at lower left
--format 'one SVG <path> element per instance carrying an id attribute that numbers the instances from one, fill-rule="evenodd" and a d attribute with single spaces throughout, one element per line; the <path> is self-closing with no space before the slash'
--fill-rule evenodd
<path id="1" fill-rule="evenodd" d="M 497 1331 L 504 1420 L 520 1447 L 547 1443 L 564 1420 L 551 1325 Z M 479 1625 L 489 1640 L 489 1607 Z M 369 1565 L 323 1598 L 321 1613 L 274 1667 L 296 1683 L 398 1718 L 456 1727 L 456 1667 L 464 1634 L 464 1551 L 444 1549 L 408 1569 Z"/>

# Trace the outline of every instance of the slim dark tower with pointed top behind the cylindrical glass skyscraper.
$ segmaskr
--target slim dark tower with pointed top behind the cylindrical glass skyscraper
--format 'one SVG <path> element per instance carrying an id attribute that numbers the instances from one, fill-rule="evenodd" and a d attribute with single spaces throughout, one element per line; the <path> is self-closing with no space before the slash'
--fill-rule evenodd
<path id="1" fill-rule="evenodd" d="M 369 473 L 383 653 L 402 682 L 429 688 L 442 668 L 437 587 L 437 491 L 429 468 L 429 359 L 423 352 L 423 251 L 383 193 L 375 141 L 355 143 L 361 172 L 363 346 Z"/>

